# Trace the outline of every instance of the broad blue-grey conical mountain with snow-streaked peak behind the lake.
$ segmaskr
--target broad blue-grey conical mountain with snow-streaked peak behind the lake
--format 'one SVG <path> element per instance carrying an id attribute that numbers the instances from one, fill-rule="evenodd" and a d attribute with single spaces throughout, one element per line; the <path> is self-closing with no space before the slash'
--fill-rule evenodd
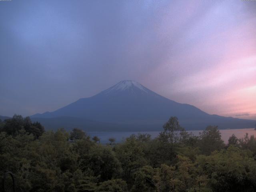
<path id="1" fill-rule="evenodd" d="M 252 128 L 255 124 L 252 120 L 207 114 L 195 106 L 180 104 L 160 96 L 140 83 L 130 80 L 121 81 L 99 94 L 81 98 L 54 112 L 35 114 L 31 118 L 41 118 L 41 121 L 44 118 L 44 122 L 48 124 L 54 120 L 59 122 L 58 126 L 65 126 L 61 120 L 73 118 L 69 121 L 73 127 L 94 127 L 96 131 L 110 130 L 108 127 L 112 126 L 112 130 L 134 131 L 162 130 L 162 125 L 170 116 L 178 117 L 180 124 L 187 130 L 200 130 L 208 125 L 218 125 L 223 129 Z M 102 127 L 102 123 L 106 124 L 106 129 Z"/>

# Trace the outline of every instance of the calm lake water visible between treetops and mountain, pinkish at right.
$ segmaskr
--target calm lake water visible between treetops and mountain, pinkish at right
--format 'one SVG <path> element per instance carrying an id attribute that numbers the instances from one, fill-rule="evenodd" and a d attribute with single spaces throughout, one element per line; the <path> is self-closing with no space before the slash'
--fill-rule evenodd
<path id="1" fill-rule="evenodd" d="M 189 133 L 192 132 L 194 135 L 198 136 L 200 132 L 203 130 L 194 130 L 194 131 L 188 131 Z M 106 144 L 108 143 L 109 138 L 115 138 L 117 143 L 123 142 L 125 138 L 129 137 L 132 134 L 150 134 L 151 138 L 156 138 L 159 134 L 159 131 L 149 131 L 149 132 L 88 132 L 88 135 L 98 136 L 100 138 L 100 143 Z M 224 129 L 220 130 L 221 138 L 224 140 L 225 143 L 228 143 L 228 139 L 232 134 L 235 134 L 237 138 L 242 138 L 246 133 L 248 135 L 254 135 L 256 136 L 256 130 L 254 128 L 250 129 Z"/>

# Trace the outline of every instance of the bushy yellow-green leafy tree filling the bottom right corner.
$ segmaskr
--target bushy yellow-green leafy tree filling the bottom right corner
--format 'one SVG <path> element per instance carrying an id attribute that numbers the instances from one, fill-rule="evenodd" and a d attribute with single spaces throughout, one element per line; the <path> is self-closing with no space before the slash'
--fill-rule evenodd
<path id="1" fill-rule="evenodd" d="M 198 156 L 198 174 L 208 176 L 212 191 L 251 192 L 256 190 L 256 161 L 246 150 L 234 146 Z"/>

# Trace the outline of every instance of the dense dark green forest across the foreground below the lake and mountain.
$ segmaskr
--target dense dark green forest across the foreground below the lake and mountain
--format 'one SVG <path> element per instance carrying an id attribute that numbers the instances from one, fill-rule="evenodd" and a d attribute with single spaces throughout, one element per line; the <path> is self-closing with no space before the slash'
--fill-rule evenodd
<path id="1" fill-rule="evenodd" d="M 101 144 L 79 128 L 45 131 L 14 115 L 0 121 L 1 192 L 12 184 L 6 172 L 16 192 L 254 192 L 256 138 L 225 144 L 217 126 L 194 136 L 170 117 L 157 138 Z"/>

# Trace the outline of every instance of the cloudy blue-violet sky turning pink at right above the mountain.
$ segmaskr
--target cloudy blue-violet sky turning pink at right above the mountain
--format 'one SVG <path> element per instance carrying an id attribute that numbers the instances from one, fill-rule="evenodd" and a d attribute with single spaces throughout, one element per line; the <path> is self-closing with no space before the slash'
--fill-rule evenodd
<path id="1" fill-rule="evenodd" d="M 256 1 L 0 1 L 0 115 L 54 111 L 121 80 L 256 120 Z"/>

